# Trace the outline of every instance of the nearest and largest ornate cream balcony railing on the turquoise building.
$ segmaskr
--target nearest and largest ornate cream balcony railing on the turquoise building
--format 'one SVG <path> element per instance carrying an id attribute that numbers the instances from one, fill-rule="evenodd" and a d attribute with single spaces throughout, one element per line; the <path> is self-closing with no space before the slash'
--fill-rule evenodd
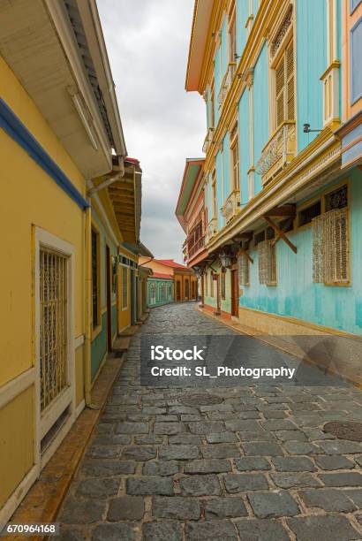
<path id="1" fill-rule="evenodd" d="M 266 184 L 285 164 L 296 155 L 296 125 L 294 120 L 283 122 L 270 138 L 256 164 L 255 171 Z"/>

